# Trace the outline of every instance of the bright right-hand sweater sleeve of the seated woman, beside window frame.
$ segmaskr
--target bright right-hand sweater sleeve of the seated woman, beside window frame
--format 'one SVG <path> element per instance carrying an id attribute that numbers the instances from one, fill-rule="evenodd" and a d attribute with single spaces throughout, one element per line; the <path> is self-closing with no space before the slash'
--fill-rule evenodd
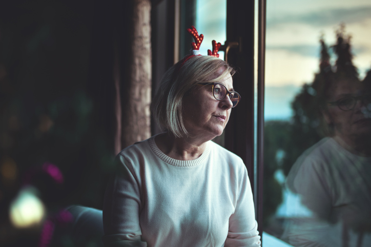
<path id="1" fill-rule="evenodd" d="M 254 200 L 248 172 L 243 166 L 239 182 L 239 194 L 235 212 L 229 219 L 228 236 L 225 246 L 260 246 L 258 224 L 255 220 Z"/>

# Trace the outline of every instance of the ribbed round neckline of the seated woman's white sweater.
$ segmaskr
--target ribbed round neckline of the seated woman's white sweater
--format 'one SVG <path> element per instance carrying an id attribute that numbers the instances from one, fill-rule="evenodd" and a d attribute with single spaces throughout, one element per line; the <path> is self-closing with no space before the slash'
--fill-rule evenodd
<path id="1" fill-rule="evenodd" d="M 162 153 L 162 151 L 157 147 L 156 142 L 155 142 L 155 136 L 152 136 L 151 138 L 148 139 L 148 143 L 152 149 L 152 151 L 164 162 L 167 162 L 168 164 L 171 164 L 172 166 L 175 167 L 195 167 L 204 162 L 210 154 L 210 141 L 207 142 L 206 148 L 201 154 L 200 157 L 197 159 L 193 160 L 178 160 L 178 159 L 173 159 L 170 158 L 168 155 Z"/>

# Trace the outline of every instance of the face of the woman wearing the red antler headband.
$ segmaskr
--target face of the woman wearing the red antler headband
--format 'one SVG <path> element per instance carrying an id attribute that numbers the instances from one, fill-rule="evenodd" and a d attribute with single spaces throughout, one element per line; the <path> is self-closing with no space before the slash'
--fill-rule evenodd
<path id="1" fill-rule="evenodd" d="M 233 90 L 232 76 L 218 81 L 229 91 Z M 197 86 L 183 99 L 183 122 L 192 137 L 213 139 L 223 133 L 231 114 L 232 101 L 228 96 L 217 100 L 212 85 Z"/>

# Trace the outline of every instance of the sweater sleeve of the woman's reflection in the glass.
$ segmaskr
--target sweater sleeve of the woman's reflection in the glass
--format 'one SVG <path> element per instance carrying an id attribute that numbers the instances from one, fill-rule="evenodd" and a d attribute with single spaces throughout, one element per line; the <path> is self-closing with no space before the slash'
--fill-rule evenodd
<path id="1" fill-rule="evenodd" d="M 287 224 L 288 240 L 294 246 L 341 246 L 340 224 L 329 222 L 331 189 L 324 164 L 306 159 L 293 179 L 293 188 L 301 198 L 297 209 L 306 208 L 308 216 L 295 217 Z"/>

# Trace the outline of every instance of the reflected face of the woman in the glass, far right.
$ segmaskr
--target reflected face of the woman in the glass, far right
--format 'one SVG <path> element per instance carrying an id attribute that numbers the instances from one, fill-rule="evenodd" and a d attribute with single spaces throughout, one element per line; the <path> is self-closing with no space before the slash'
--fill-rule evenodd
<path id="1" fill-rule="evenodd" d="M 361 96 L 369 94 L 365 92 L 362 83 L 359 81 L 342 80 L 338 81 L 331 89 L 327 99 L 329 102 L 337 101 L 348 96 Z M 343 139 L 359 137 L 371 134 L 371 118 L 365 114 L 367 106 L 358 100 L 352 110 L 343 111 L 338 106 L 328 106 L 324 117 L 328 124 L 333 124 L 335 135 Z"/>

